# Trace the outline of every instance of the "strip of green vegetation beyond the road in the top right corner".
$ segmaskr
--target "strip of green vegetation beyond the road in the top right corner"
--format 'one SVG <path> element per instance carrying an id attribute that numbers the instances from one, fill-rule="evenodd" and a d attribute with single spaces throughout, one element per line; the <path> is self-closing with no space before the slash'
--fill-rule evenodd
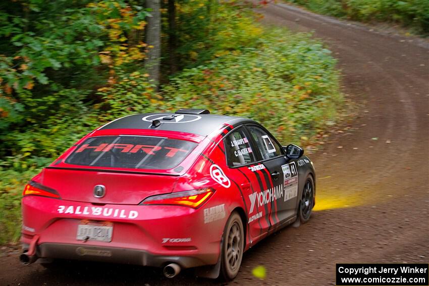
<path id="1" fill-rule="evenodd" d="M 333 17 L 362 22 L 390 22 L 429 36 L 427 0 L 286 0 Z"/>

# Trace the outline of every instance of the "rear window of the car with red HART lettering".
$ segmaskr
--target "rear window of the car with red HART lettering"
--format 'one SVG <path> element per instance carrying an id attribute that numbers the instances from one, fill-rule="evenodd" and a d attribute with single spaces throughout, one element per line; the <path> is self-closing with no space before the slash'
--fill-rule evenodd
<path id="1" fill-rule="evenodd" d="M 66 163 L 84 166 L 171 169 L 197 144 L 153 136 L 98 136 L 77 146 Z"/>

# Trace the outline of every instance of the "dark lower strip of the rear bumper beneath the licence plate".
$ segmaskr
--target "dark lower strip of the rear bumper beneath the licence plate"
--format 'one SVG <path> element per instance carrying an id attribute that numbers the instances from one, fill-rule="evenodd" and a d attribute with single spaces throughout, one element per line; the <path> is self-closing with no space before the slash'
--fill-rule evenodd
<path id="1" fill-rule="evenodd" d="M 25 247 L 25 246 L 24 246 Z M 42 243 L 37 246 L 38 257 L 61 258 L 85 261 L 135 264 L 142 266 L 163 267 L 177 263 L 182 268 L 205 265 L 211 257 L 162 256 L 138 249 L 115 247 L 82 246 L 79 244 Z M 204 255 L 203 255 L 204 256 Z M 209 255 L 206 255 L 209 256 Z"/>

